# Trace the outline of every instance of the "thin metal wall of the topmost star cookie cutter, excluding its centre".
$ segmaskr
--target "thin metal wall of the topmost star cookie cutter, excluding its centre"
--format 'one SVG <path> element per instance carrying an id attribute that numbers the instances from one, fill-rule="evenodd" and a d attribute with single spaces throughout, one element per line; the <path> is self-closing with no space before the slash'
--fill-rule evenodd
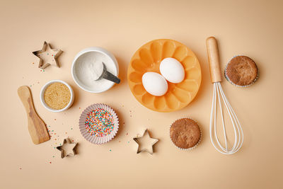
<path id="1" fill-rule="evenodd" d="M 59 50 L 59 49 L 52 49 L 50 43 L 47 43 L 46 41 L 43 43 L 43 46 L 42 46 L 41 50 L 37 50 L 37 51 L 33 52 L 33 55 L 35 55 L 36 57 L 38 57 L 40 59 L 38 67 L 40 69 L 45 69 L 45 68 L 47 68 L 47 67 L 49 67 L 51 65 L 50 63 L 44 62 L 43 59 L 39 56 L 39 54 L 41 54 L 42 52 L 46 51 L 47 47 L 49 47 L 53 52 L 55 52 L 54 62 L 56 63 L 57 67 L 60 67 L 59 63 L 57 62 L 57 58 L 62 54 L 63 51 Z"/>

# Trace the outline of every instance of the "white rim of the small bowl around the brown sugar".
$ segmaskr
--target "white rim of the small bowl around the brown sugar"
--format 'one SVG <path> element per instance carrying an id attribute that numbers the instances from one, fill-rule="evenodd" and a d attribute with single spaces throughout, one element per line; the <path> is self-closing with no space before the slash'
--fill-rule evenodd
<path id="1" fill-rule="evenodd" d="M 45 89 L 47 88 L 47 86 L 49 86 L 50 84 L 53 84 L 53 83 L 56 83 L 56 82 L 59 82 L 59 83 L 62 83 L 64 84 L 65 86 L 67 86 L 69 88 L 69 91 L 71 93 L 71 98 L 70 98 L 70 101 L 69 103 L 62 109 L 60 110 L 54 110 L 52 108 L 50 108 L 46 103 L 45 103 L 45 100 L 44 100 L 44 93 L 45 93 Z M 74 91 L 73 89 L 71 88 L 71 86 L 69 86 L 69 84 L 67 84 L 65 81 L 62 81 L 62 80 L 51 80 L 51 81 L 48 81 L 44 86 L 42 86 L 41 88 L 41 91 L 40 91 L 40 101 L 42 103 L 42 105 L 47 109 L 47 110 L 50 110 L 51 112 L 54 112 L 54 113 L 59 113 L 59 112 L 62 112 L 64 110 L 67 110 L 68 108 L 71 107 L 71 105 L 74 103 Z"/>

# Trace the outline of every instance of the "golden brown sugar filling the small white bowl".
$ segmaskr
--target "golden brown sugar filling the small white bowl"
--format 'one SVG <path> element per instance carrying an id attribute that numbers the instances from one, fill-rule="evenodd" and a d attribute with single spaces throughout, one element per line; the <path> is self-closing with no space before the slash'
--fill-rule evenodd
<path id="1" fill-rule="evenodd" d="M 70 99 L 71 93 L 69 88 L 60 82 L 54 82 L 45 89 L 45 103 L 54 110 L 65 108 L 70 102 Z"/>

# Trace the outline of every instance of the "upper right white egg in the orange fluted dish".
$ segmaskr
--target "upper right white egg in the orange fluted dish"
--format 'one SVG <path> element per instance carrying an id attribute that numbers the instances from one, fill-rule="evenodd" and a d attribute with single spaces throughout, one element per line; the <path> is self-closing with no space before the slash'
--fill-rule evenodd
<path id="1" fill-rule="evenodd" d="M 174 84 L 182 82 L 185 78 L 185 70 L 182 64 L 174 58 L 163 59 L 160 63 L 159 70 L 167 81 Z"/>

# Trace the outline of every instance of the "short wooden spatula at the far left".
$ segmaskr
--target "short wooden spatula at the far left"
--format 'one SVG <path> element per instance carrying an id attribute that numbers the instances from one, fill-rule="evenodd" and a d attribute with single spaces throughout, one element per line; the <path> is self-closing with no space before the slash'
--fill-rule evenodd
<path id="1" fill-rule="evenodd" d="M 33 143 L 40 144 L 50 139 L 47 132 L 45 122 L 37 115 L 33 105 L 33 97 L 28 86 L 20 86 L 18 88 L 18 96 L 21 98 L 25 111 L 28 115 L 28 131 Z"/>

